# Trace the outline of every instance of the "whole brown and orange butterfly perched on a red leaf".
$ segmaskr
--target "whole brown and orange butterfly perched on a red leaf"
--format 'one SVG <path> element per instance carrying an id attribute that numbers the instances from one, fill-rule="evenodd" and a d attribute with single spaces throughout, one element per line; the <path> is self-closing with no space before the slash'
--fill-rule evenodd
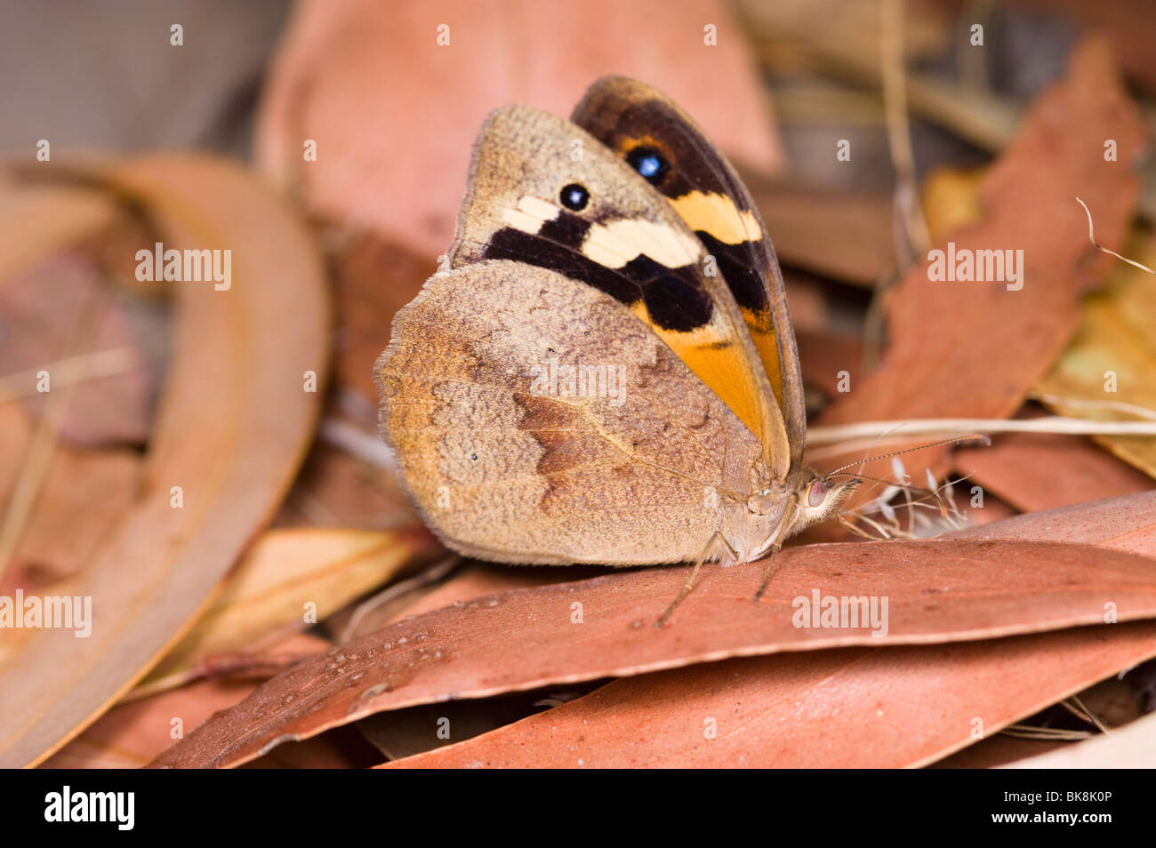
<path id="1" fill-rule="evenodd" d="M 454 551 L 770 557 L 757 600 L 784 540 L 858 484 L 803 464 L 775 248 L 722 153 L 657 89 L 608 76 L 571 120 L 490 113 L 445 267 L 397 314 L 376 378 L 403 484 Z"/>

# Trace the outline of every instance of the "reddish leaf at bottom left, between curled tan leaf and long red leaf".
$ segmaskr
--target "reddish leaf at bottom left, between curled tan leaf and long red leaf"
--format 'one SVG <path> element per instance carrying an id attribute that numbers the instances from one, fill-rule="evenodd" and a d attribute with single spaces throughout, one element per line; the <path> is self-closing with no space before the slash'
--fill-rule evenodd
<path id="1" fill-rule="evenodd" d="M 281 654 L 309 655 L 329 647 L 305 633 L 280 642 Z M 279 669 L 280 670 L 280 669 Z M 173 721 L 186 734 L 218 709 L 245 698 L 260 678 L 198 680 L 178 690 L 119 704 L 50 757 L 42 768 L 140 768 L 172 744 Z"/>

